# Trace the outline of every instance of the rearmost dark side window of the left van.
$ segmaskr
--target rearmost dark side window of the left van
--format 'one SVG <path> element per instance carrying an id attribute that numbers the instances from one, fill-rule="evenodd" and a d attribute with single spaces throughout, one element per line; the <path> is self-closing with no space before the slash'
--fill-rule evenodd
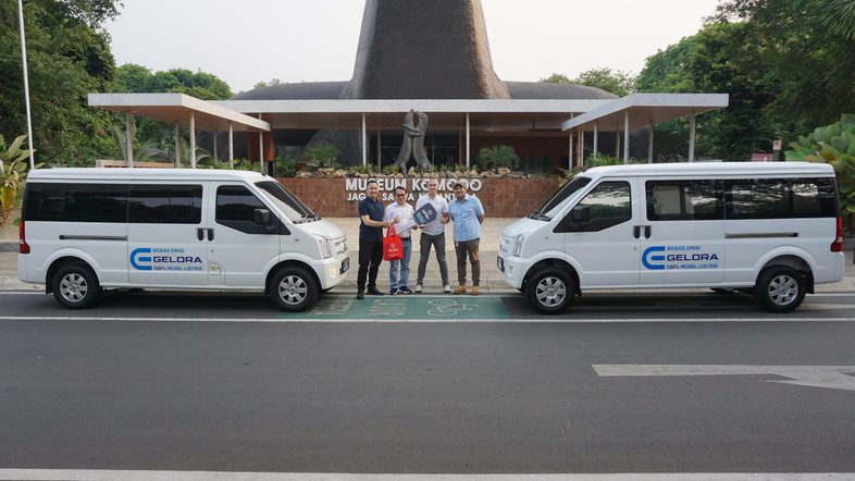
<path id="1" fill-rule="evenodd" d="M 127 222 L 127 184 L 27 186 L 25 221 Z"/>

